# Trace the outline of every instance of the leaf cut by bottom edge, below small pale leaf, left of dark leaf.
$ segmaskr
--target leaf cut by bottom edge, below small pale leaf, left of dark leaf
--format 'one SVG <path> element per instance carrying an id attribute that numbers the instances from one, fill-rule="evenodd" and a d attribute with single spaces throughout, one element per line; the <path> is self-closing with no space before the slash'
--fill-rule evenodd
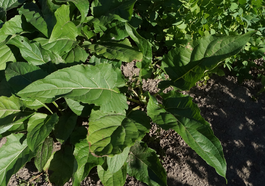
<path id="1" fill-rule="evenodd" d="M 126 181 L 126 169 L 126 162 L 116 173 L 111 173 L 108 169 L 105 171 L 100 165 L 98 165 L 98 176 L 105 186 L 123 186 Z"/>

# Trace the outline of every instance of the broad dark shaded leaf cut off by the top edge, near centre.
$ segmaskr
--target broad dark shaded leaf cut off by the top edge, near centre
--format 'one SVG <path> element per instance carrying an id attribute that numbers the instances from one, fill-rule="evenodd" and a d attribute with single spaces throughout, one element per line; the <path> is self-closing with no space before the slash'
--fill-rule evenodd
<path id="1" fill-rule="evenodd" d="M 94 0 L 91 3 L 91 13 L 98 18 L 97 23 L 105 25 L 112 20 L 129 21 L 132 16 L 136 0 Z"/>

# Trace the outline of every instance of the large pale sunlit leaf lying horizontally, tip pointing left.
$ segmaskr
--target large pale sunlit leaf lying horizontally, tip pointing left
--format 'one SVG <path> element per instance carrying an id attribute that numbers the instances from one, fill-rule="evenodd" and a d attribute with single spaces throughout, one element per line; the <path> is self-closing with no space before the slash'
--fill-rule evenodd
<path id="1" fill-rule="evenodd" d="M 94 103 L 105 112 L 122 112 L 128 108 L 126 96 L 117 89 L 122 86 L 124 79 L 121 71 L 113 69 L 111 64 L 76 65 L 33 82 L 17 95 L 46 103 L 65 97 Z"/>

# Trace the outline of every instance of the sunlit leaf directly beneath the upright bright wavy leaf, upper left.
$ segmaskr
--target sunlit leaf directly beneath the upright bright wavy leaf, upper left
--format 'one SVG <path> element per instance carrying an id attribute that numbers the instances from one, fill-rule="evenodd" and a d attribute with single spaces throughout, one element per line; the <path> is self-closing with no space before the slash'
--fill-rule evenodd
<path id="1" fill-rule="evenodd" d="M 53 42 L 49 42 L 49 39 L 36 38 L 34 41 L 40 43 L 42 48 L 50 50 L 58 55 L 68 53 L 77 44 L 77 41 L 70 39 L 58 39 Z"/>

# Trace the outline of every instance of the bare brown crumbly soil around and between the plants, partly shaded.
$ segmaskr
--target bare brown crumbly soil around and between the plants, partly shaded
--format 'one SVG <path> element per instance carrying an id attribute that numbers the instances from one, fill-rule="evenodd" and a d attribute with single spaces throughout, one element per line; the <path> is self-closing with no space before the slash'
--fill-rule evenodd
<path id="1" fill-rule="evenodd" d="M 137 69 L 133 63 L 122 67 L 127 76 Z M 158 80 L 144 81 L 144 88 L 156 92 Z M 265 177 L 265 93 L 256 96 L 261 89 L 260 80 L 247 80 L 239 85 L 235 77 L 213 75 L 201 87 L 189 92 L 201 109 L 201 115 L 211 124 L 215 136 L 223 146 L 227 162 L 227 185 L 264 185 Z M 256 97 L 252 98 L 252 96 Z M 226 181 L 213 167 L 206 164 L 173 130 L 164 131 L 153 124 L 152 130 L 143 139 L 148 147 L 160 155 L 167 171 L 167 185 L 175 186 L 223 186 Z M 19 180 L 30 180 L 39 175 L 33 160 L 14 175 L 9 186 L 19 185 Z M 48 185 L 45 174 L 34 185 Z M 37 180 L 37 179 L 36 179 Z M 71 181 L 65 186 L 72 185 Z M 81 183 L 83 186 L 102 185 L 96 168 Z M 127 176 L 127 186 L 146 185 Z"/>

